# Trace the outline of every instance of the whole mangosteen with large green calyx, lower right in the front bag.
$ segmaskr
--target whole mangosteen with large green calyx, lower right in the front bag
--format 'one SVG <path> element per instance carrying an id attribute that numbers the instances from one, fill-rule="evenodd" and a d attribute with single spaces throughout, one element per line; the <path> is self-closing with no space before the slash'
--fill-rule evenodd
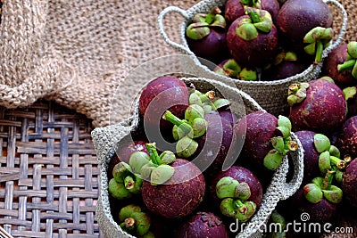
<path id="1" fill-rule="evenodd" d="M 213 176 L 208 193 L 214 206 L 226 217 L 245 222 L 262 204 L 262 185 L 247 168 L 232 166 Z"/>

